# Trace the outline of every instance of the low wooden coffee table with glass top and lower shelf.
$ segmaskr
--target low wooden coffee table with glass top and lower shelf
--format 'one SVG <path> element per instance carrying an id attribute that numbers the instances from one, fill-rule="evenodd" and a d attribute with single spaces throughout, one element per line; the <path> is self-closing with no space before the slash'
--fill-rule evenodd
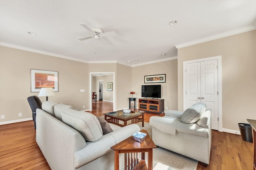
<path id="1" fill-rule="evenodd" d="M 130 114 L 126 114 L 126 113 L 123 113 L 123 111 L 115 111 L 110 113 L 104 113 L 103 115 L 105 115 L 105 120 L 108 123 L 113 123 L 120 127 L 124 127 L 126 125 L 130 125 L 138 122 L 142 122 L 142 127 L 144 127 L 144 113 L 131 111 Z M 123 124 L 121 124 L 122 122 Z"/>

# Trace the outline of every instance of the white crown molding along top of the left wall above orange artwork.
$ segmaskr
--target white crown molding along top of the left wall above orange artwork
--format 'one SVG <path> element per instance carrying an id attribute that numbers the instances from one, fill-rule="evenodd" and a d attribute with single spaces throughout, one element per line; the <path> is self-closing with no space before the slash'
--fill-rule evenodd
<path id="1" fill-rule="evenodd" d="M 46 51 L 41 51 L 41 50 L 38 50 L 38 49 L 28 48 L 28 47 L 24 47 L 24 46 L 20 46 L 20 45 L 16 45 L 16 44 L 0 42 L 0 45 L 5 46 L 5 47 L 15 48 L 15 49 L 21 49 L 21 50 L 24 50 L 24 51 L 30 51 L 30 52 L 33 52 L 33 53 L 50 55 L 50 56 L 53 56 L 53 57 L 59 57 L 59 58 L 63 58 L 63 59 L 79 61 L 79 62 L 82 62 L 82 63 L 88 63 L 88 61 L 84 61 L 84 60 L 81 60 L 81 59 L 76 59 L 76 58 L 68 57 L 68 56 L 65 56 L 65 55 L 59 55 L 59 54 L 56 54 L 56 53 L 49 53 L 49 52 L 46 52 Z"/>

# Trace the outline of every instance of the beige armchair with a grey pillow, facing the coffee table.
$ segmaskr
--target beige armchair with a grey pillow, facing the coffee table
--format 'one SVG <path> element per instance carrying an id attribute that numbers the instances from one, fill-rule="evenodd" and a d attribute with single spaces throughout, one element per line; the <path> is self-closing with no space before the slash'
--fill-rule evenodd
<path id="1" fill-rule="evenodd" d="M 191 108 L 184 113 L 167 110 L 164 117 L 150 117 L 152 140 L 157 146 L 207 166 L 212 142 L 211 111 L 202 103 Z M 195 108 L 199 111 L 194 111 Z"/>

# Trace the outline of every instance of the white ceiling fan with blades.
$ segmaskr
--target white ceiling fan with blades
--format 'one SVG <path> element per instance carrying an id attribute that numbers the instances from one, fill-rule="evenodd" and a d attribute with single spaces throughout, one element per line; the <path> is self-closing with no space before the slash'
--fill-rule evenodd
<path id="1" fill-rule="evenodd" d="M 85 24 L 80 24 L 80 25 L 92 34 L 91 36 L 79 38 L 78 40 L 81 40 L 81 41 L 87 40 L 89 38 L 100 39 L 101 37 L 106 37 L 106 36 L 116 36 L 116 33 L 114 31 L 102 32 L 102 30 L 100 30 L 100 28 L 92 28 L 91 29 L 88 26 L 86 26 Z"/>

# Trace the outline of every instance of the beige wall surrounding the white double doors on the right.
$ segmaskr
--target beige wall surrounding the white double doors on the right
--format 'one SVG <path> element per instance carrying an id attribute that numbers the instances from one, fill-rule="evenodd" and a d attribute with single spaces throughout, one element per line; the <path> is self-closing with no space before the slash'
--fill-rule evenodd
<path id="1" fill-rule="evenodd" d="M 183 110 L 183 61 L 222 56 L 223 128 L 256 119 L 256 30 L 178 49 L 178 110 Z"/>

